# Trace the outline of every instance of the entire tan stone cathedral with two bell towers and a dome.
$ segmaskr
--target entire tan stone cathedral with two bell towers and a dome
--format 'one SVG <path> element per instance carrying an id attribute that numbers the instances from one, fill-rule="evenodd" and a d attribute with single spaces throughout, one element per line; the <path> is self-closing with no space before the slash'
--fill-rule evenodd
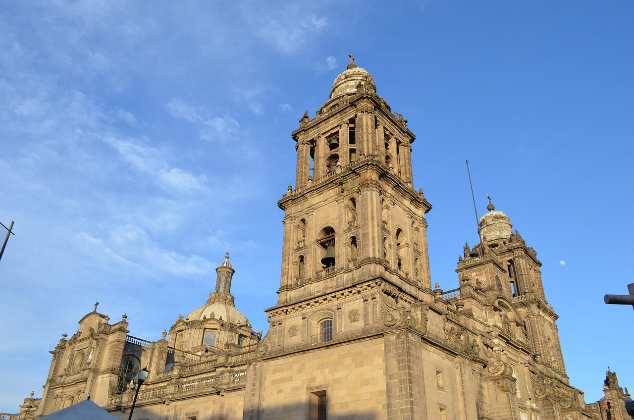
<path id="1" fill-rule="evenodd" d="M 292 138 L 295 186 L 278 202 L 280 288 L 264 336 L 236 308 L 240 267 L 226 254 L 204 305 L 159 341 L 95 305 L 51 351 L 42 398 L 6 418 L 90 397 L 127 419 L 143 367 L 135 420 L 629 418 L 613 372 L 603 403 L 586 405 L 569 383 L 540 260 L 490 199 L 479 243 L 458 258 L 459 287 L 432 281 L 415 135 L 352 57 Z"/>

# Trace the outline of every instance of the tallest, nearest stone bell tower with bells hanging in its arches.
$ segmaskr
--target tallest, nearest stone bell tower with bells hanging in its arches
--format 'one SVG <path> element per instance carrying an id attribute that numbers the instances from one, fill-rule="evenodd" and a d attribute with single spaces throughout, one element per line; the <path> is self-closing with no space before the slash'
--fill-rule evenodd
<path id="1" fill-rule="evenodd" d="M 346 294 L 346 305 L 354 306 L 347 313 L 364 313 L 368 327 L 380 324 L 381 311 L 367 297 L 351 303 L 352 295 L 381 287 L 396 302 L 420 302 L 425 291 L 432 296 L 425 221 L 431 206 L 413 186 L 415 136 L 403 115 L 377 95 L 372 75 L 351 56 L 316 117 L 306 112 L 299 123 L 292 134 L 295 188 L 289 185 L 278 202 L 285 211 L 281 281 L 277 305 L 266 310 L 273 340 L 283 314 L 305 312 L 305 324 L 311 308 L 322 306 L 315 299 Z M 309 325 L 304 330 L 304 341 L 315 334 Z"/>

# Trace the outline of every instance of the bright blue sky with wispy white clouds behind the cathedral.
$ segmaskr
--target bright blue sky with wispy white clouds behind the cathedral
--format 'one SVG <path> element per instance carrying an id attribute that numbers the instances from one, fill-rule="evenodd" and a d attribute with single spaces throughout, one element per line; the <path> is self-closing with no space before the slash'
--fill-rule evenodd
<path id="1" fill-rule="evenodd" d="M 41 397 L 48 351 L 95 301 L 159 339 L 227 251 L 266 332 L 290 133 L 350 52 L 417 135 L 432 282 L 457 287 L 477 242 L 469 159 L 479 214 L 491 195 L 543 263 L 571 384 L 593 402 L 610 366 L 634 386 L 634 313 L 603 303 L 634 282 L 634 3 L 378 4 L 3 2 L 0 410 Z"/>

